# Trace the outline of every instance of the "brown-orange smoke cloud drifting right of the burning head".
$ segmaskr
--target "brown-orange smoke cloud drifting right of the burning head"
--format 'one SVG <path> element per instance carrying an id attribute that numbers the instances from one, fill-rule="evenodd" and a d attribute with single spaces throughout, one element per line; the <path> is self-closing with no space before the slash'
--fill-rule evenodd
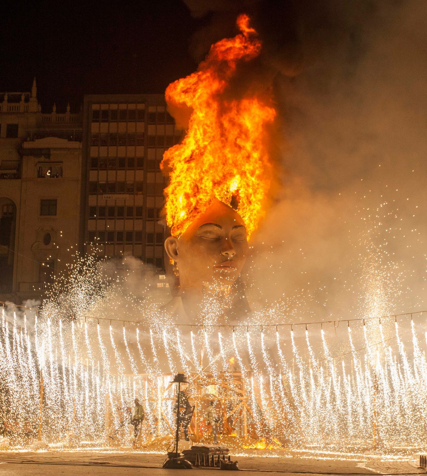
<path id="1" fill-rule="evenodd" d="M 253 16 L 264 47 L 244 84 L 277 100 L 283 187 L 254 237 L 253 307 L 285 298 L 303 320 L 424 309 L 425 2 L 186 3 L 206 19 L 197 59 Z"/>

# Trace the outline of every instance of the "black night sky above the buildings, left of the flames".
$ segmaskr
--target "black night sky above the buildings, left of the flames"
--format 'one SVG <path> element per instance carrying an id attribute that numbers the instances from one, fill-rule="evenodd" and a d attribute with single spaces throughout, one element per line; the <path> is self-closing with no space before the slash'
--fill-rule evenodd
<path id="1" fill-rule="evenodd" d="M 1 8 L 0 90 L 28 91 L 43 109 L 83 94 L 162 93 L 197 63 L 189 38 L 201 20 L 182 1 L 7 1 Z"/>

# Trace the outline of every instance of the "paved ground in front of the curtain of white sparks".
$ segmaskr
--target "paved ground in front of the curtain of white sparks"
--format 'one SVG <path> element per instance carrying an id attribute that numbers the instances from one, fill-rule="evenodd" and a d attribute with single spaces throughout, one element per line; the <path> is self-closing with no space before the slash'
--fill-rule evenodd
<path id="1" fill-rule="evenodd" d="M 241 474 L 247 476 L 359 476 L 366 474 L 416 475 L 425 473 L 405 458 L 295 454 L 288 456 L 234 456 Z M 174 469 L 162 469 L 165 457 L 138 452 L 0 452 L 0 476 L 169 476 Z M 209 476 L 219 469 L 194 468 L 193 476 Z M 224 473 L 221 473 L 224 474 Z"/>

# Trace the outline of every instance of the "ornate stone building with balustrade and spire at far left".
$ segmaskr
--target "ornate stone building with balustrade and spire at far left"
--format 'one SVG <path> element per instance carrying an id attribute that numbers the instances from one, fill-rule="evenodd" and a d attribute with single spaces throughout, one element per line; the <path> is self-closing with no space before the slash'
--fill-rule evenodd
<path id="1" fill-rule="evenodd" d="M 81 113 L 0 93 L 0 300 L 40 298 L 81 225 Z"/>

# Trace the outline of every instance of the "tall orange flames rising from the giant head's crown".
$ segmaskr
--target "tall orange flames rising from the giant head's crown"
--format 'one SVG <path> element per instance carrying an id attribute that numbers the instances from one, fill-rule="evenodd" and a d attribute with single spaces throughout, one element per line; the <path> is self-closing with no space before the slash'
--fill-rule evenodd
<path id="1" fill-rule="evenodd" d="M 242 99 L 222 95 L 237 63 L 253 59 L 261 50 L 247 15 L 238 17 L 237 26 L 241 33 L 212 45 L 198 71 L 166 89 L 170 107 L 191 110 L 186 136 L 164 153 L 161 163 L 170 178 L 165 189 L 166 221 L 176 237 L 214 198 L 233 205 L 248 236 L 263 215 L 271 181 L 265 129 L 276 113 L 254 95 Z"/>

